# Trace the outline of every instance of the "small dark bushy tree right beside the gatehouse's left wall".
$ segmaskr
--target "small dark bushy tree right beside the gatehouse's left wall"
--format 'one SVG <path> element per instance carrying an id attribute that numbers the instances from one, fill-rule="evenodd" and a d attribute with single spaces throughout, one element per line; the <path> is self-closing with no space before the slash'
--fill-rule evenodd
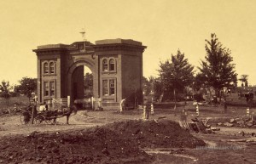
<path id="1" fill-rule="evenodd" d="M 15 92 L 20 94 L 25 94 L 28 100 L 30 101 L 32 93 L 37 90 L 37 79 L 30 77 L 22 77 L 19 81 L 20 85 L 15 87 Z"/>

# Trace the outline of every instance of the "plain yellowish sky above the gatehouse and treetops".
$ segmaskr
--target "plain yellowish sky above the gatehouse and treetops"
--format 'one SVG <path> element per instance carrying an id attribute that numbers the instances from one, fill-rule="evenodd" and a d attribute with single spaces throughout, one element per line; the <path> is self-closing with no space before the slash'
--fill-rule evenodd
<path id="1" fill-rule="evenodd" d="M 147 46 L 143 76 L 158 76 L 160 61 L 180 49 L 191 65 L 206 55 L 215 33 L 230 48 L 238 78 L 256 85 L 254 0 L 1 0 L 0 82 L 37 77 L 39 45 L 133 39 Z"/>

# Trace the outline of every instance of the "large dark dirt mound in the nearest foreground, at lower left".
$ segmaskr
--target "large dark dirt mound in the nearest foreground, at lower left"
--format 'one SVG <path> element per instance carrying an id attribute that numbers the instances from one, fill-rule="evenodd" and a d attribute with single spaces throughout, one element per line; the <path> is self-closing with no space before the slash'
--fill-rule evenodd
<path id="1" fill-rule="evenodd" d="M 152 161 L 135 142 L 105 127 L 68 133 L 31 133 L 0 139 L 1 163 L 143 163 Z"/>

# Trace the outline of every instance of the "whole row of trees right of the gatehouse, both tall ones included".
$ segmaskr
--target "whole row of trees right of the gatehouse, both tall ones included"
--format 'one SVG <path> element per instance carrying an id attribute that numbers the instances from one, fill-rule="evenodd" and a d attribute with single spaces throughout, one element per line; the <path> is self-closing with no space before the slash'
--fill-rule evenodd
<path id="1" fill-rule="evenodd" d="M 144 78 L 144 93 L 147 94 L 145 91 L 150 86 L 150 89 L 154 89 L 157 99 L 176 100 L 177 93 L 188 93 L 188 88 L 192 88 L 195 93 L 201 88 L 213 88 L 214 96 L 221 98 L 222 89 L 236 88 L 238 80 L 241 81 L 242 87 L 247 87 L 247 75 L 241 75 L 241 78 L 237 79 L 231 50 L 225 48 L 214 33 L 205 42 L 205 58 L 200 60 L 200 66 L 196 67 L 197 71 L 195 66 L 189 64 L 185 54 L 178 49 L 177 54 L 171 55 L 171 59 L 160 61 L 158 77 L 150 76 L 149 80 Z"/>

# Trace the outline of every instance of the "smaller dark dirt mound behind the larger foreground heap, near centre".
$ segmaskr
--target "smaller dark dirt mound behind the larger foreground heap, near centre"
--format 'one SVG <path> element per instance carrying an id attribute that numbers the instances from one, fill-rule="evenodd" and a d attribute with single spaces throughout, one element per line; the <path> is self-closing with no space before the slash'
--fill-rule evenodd
<path id="1" fill-rule="evenodd" d="M 205 142 L 183 130 L 177 122 L 132 120 L 108 125 L 123 139 L 135 140 L 142 148 L 195 148 Z"/>

